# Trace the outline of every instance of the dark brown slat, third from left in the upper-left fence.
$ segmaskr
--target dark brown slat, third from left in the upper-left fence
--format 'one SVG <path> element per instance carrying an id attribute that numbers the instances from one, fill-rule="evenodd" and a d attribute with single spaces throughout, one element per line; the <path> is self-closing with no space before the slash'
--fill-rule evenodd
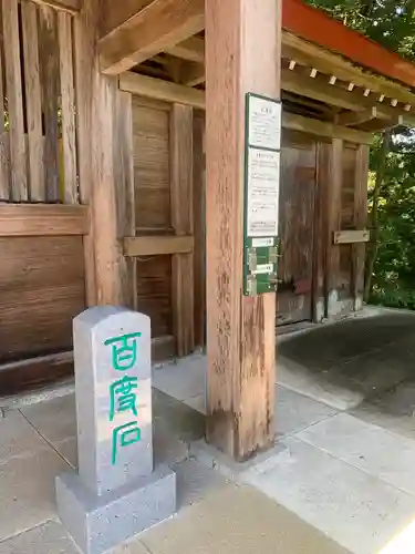
<path id="1" fill-rule="evenodd" d="M 41 41 L 41 75 L 44 117 L 44 171 L 46 201 L 59 199 L 59 150 L 58 150 L 58 109 L 59 109 L 59 43 L 56 12 L 53 8 L 39 8 Z"/>

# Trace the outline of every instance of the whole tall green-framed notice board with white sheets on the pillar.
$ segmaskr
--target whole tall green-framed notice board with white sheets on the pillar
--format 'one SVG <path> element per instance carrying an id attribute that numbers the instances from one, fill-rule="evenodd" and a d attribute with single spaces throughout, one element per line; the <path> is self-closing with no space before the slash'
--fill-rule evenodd
<path id="1" fill-rule="evenodd" d="M 243 294 L 272 293 L 278 284 L 278 206 L 281 102 L 246 96 Z"/>

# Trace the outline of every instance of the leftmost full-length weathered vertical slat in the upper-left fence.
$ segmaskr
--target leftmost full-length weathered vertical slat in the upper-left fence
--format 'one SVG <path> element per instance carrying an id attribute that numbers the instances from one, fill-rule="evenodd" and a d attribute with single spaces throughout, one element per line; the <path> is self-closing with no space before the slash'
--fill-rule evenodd
<path id="1" fill-rule="evenodd" d="M 20 65 L 20 38 L 18 0 L 2 1 L 2 21 L 7 99 L 10 122 L 11 197 L 27 201 L 29 197 L 23 121 L 23 91 Z"/>

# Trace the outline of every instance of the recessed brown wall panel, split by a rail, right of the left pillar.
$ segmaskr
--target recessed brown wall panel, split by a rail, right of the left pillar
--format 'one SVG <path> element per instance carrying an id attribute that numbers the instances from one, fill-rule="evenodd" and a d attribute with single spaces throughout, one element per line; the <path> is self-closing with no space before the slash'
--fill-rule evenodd
<path id="1" fill-rule="evenodd" d="M 133 96 L 136 234 L 172 234 L 170 106 Z M 152 318 L 152 336 L 173 335 L 172 257 L 137 257 L 137 309 Z"/>

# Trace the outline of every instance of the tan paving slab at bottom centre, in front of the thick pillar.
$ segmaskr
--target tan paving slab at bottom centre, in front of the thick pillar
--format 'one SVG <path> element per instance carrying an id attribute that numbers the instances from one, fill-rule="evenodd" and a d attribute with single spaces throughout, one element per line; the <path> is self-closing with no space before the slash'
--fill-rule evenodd
<path id="1" fill-rule="evenodd" d="M 152 554 L 346 554 L 250 486 L 228 484 L 141 538 Z M 125 554 L 141 554 L 134 545 Z"/>

